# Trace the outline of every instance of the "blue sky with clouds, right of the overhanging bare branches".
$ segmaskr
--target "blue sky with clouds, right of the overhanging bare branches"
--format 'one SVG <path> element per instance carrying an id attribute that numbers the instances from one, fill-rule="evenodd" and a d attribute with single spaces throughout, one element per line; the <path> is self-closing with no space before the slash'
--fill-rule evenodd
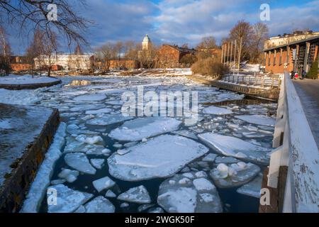
<path id="1" fill-rule="evenodd" d="M 145 34 L 157 44 L 194 46 L 206 35 L 220 41 L 239 20 L 259 22 L 264 3 L 270 6 L 270 35 L 319 31 L 319 0 L 87 0 L 87 7 L 77 11 L 95 21 L 86 35 L 92 47 L 106 41 L 141 41 Z M 23 53 L 28 40 L 9 35 L 13 51 Z"/>

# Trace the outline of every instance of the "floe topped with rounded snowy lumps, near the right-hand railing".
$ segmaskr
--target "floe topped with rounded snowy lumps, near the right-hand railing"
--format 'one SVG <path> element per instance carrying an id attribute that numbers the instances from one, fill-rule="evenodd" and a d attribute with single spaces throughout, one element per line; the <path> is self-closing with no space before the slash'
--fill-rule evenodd
<path id="1" fill-rule="evenodd" d="M 260 167 L 252 163 L 219 164 L 210 175 L 219 188 L 239 187 L 250 182 L 260 172 Z"/>

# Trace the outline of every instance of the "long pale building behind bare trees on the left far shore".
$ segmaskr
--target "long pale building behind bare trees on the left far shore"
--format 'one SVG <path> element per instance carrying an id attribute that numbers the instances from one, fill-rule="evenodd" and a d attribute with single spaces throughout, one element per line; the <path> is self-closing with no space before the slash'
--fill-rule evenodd
<path id="1" fill-rule="evenodd" d="M 34 59 L 35 68 L 51 65 L 63 70 L 90 70 L 94 64 L 93 55 L 52 55 L 51 57 L 40 56 Z"/>

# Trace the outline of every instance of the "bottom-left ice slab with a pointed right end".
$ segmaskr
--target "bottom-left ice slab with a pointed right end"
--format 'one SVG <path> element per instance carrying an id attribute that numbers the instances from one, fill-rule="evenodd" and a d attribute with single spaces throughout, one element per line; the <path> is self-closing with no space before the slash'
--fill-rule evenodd
<path id="1" fill-rule="evenodd" d="M 92 194 L 69 189 L 63 184 L 48 187 L 48 192 L 57 192 L 57 204 L 47 205 L 49 213 L 72 213 L 93 197 Z"/>

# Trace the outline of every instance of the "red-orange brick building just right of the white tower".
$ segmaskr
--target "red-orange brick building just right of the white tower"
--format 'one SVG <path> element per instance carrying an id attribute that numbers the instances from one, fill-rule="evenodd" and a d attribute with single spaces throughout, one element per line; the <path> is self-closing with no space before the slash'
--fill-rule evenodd
<path id="1" fill-rule="evenodd" d="M 181 57 L 187 54 L 195 54 L 196 50 L 180 48 L 177 45 L 162 45 L 158 50 L 158 67 L 159 68 L 178 68 L 182 67 Z"/>

